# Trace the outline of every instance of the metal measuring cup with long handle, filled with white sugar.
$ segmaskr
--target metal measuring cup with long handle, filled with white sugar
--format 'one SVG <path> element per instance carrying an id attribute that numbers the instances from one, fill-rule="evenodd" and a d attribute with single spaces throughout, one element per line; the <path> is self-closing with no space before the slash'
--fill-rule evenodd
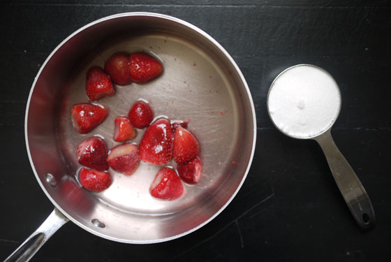
<path id="1" fill-rule="evenodd" d="M 306 108 L 319 113 L 312 113 L 311 117 L 303 112 Z M 267 94 L 267 112 L 274 126 L 291 138 L 318 142 L 357 224 L 361 228 L 371 228 L 375 214 L 369 196 L 331 136 L 332 125 L 340 110 L 341 92 L 337 82 L 323 68 L 309 64 L 282 71 Z"/>

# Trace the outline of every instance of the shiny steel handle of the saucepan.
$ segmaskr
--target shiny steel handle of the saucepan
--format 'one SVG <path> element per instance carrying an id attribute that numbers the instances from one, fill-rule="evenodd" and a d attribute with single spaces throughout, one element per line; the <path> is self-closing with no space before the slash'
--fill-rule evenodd
<path id="1" fill-rule="evenodd" d="M 45 244 L 45 242 L 69 219 L 64 217 L 57 208 L 47 217 L 40 227 L 18 247 L 13 254 L 10 254 L 4 262 L 29 261 L 34 254 Z"/>

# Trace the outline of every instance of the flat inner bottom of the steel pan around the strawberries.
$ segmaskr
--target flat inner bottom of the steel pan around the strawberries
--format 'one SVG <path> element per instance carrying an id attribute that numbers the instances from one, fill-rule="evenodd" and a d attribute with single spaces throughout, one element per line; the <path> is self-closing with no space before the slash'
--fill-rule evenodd
<path id="1" fill-rule="evenodd" d="M 164 71 L 158 78 L 144 84 L 131 83 L 116 86 L 115 95 L 96 101 L 107 105 L 110 114 L 96 129 L 81 135 L 71 124 L 71 107 L 85 103 L 85 75 L 91 66 L 101 66 L 115 52 L 147 52 L 161 59 Z M 133 36 L 117 41 L 91 54 L 80 65 L 74 78 L 66 85 L 59 111 L 59 141 L 70 175 L 81 167 L 76 159 L 76 147 L 91 136 L 105 138 L 108 149 L 119 145 L 112 139 L 114 119 L 126 116 L 131 105 L 139 99 L 149 101 L 154 115 L 169 119 L 188 120 L 188 129 L 198 138 L 202 175 L 200 183 L 188 185 L 186 195 L 175 201 L 162 201 L 149 194 L 149 186 L 158 170 L 156 166 L 140 161 L 138 170 L 130 177 L 110 168 L 112 185 L 101 193 L 91 193 L 106 205 L 123 212 L 138 214 L 167 214 L 190 208 L 207 199 L 229 175 L 235 164 L 233 152 L 239 140 L 239 104 L 235 99 L 233 81 L 214 57 L 206 50 L 180 36 L 156 33 Z M 135 139 L 140 143 L 145 129 L 138 129 Z M 176 166 L 174 161 L 168 166 Z"/>

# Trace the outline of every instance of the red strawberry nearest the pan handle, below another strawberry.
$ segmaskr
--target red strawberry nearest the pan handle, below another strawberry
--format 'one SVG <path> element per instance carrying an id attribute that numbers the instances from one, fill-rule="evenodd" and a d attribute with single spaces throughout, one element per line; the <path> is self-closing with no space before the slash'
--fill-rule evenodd
<path id="1" fill-rule="evenodd" d="M 94 192 L 101 192 L 110 187 L 112 182 L 110 173 L 91 170 L 87 168 L 80 169 L 79 181 L 84 189 Z"/>

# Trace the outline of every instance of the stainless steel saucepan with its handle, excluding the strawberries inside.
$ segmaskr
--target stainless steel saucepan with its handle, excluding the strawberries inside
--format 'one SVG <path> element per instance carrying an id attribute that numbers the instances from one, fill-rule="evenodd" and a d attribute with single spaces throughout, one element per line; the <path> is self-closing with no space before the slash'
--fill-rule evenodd
<path id="1" fill-rule="evenodd" d="M 115 87 L 98 101 L 110 115 L 86 135 L 71 124 L 75 103 L 87 102 L 85 75 L 115 52 L 147 52 L 161 59 L 163 75 L 145 84 Z M 101 193 L 80 187 L 75 149 L 89 136 L 103 136 L 108 148 L 114 119 L 146 99 L 155 115 L 190 119 L 200 142 L 200 184 L 186 196 L 161 201 L 149 184 L 161 166 L 140 163 L 125 177 L 114 170 Z M 135 142 L 142 138 L 138 130 Z M 25 119 L 31 166 L 54 211 L 6 261 L 28 261 L 66 221 L 102 238 L 132 244 L 163 242 L 191 233 L 219 214 L 242 186 L 253 159 L 256 115 L 249 88 L 232 57 L 211 36 L 175 17 L 122 13 L 96 20 L 68 36 L 47 57 L 31 87 Z M 170 163 L 175 166 L 175 163 Z"/>

